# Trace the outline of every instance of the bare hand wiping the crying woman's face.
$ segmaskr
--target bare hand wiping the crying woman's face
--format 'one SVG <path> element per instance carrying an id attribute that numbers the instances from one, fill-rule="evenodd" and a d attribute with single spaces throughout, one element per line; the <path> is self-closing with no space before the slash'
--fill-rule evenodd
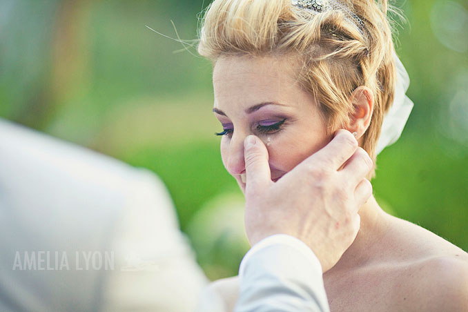
<path id="1" fill-rule="evenodd" d="M 244 157 L 251 245 L 273 234 L 292 235 L 312 249 L 324 272 L 331 269 L 358 235 L 358 210 L 372 194 L 365 179 L 373 167 L 369 155 L 349 131 L 338 130 L 328 145 L 277 182 L 271 181 L 268 151 L 260 139 L 246 137 Z"/>

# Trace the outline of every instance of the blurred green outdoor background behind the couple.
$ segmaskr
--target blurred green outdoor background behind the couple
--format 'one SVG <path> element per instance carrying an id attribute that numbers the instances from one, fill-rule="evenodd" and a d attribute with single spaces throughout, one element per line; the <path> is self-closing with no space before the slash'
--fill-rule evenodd
<path id="1" fill-rule="evenodd" d="M 224 169 L 211 64 L 195 48 L 208 1 L 0 0 L 0 116 L 153 170 L 211 278 L 248 248 L 242 193 Z M 415 107 L 378 157 L 389 212 L 468 250 L 468 2 L 394 3 Z M 189 41 L 190 43 L 190 41 Z"/>

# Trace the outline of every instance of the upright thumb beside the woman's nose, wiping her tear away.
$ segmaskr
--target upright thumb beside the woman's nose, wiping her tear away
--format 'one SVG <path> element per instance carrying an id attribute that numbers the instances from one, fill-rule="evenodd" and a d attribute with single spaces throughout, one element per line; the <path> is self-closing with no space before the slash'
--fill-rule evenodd
<path id="1" fill-rule="evenodd" d="M 255 135 L 249 135 L 244 139 L 246 193 L 248 190 L 262 189 L 266 183 L 271 182 L 268 159 L 268 150 L 262 140 Z"/>

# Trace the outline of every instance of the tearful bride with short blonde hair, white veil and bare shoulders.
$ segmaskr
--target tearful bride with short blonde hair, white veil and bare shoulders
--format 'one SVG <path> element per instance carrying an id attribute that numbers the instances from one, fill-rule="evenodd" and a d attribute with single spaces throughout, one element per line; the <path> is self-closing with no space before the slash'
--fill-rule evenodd
<path id="1" fill-rule="evenodd" d="M 247 135 L 265 143 L 273 182 L 338 128 L 355 133 L 374 164 L 400 135 L 411 108 L 387 10 L 385 0 L 211 3 L 198 51 L 213 62 L 222 161 L 242 191 Z M 358 237 L 323 275 L 331 311 L 468 311 L 465 251 L 373 197 L 359 214 Z M 213 289 L 232 309 L 236 277 Z"/>

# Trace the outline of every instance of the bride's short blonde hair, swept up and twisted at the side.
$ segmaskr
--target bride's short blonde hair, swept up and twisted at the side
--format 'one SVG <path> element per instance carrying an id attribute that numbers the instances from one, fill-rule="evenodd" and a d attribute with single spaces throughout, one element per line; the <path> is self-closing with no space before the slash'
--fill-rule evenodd
<path id="1" fill-rule="evenodd" d="M 336 1 L 336 0 L 333 0 Z M 371 123 L 362 148 L 376 159 L 384 113 L 393 102 L 393 59 L 387 0 L 340 0 L 359 19 L 340 10 L 315 12 L 291 0 L 215 0 L 199 30 L 198 52 L 213 66 L 219 57 L 289 57 L 300 86 L 319 103 L 329 133 L 349 124 L 351 94 L 358 86 L 373 92 Z M 369 177 L 375 175 L 375 169 Z"/>

